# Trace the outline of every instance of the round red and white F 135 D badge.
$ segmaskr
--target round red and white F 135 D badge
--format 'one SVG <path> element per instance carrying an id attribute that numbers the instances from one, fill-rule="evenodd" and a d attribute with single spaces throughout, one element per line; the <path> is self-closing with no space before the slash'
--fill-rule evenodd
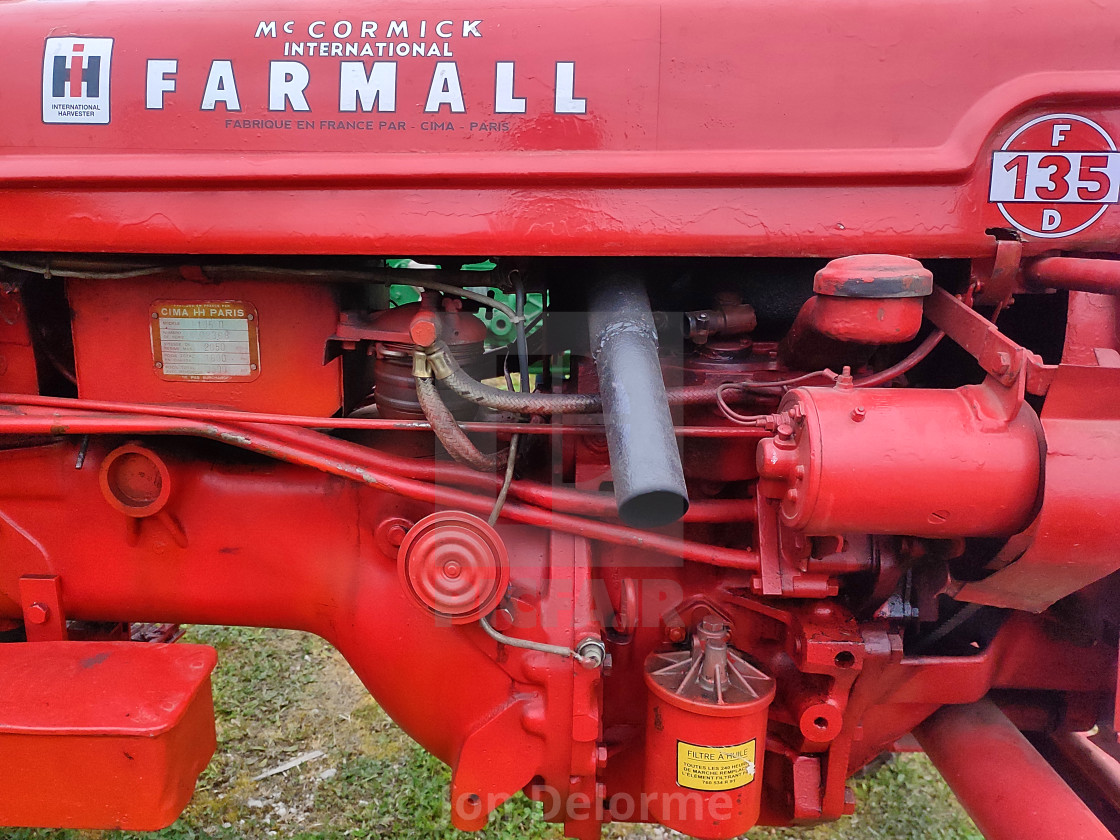
<path id="1" fill-rule="evenodd" d="M 989 200 L 1023 233 L 1070 236 L 1120 200 L 1120 153 L 1092 120 L 1039 116 L 992 155 Z"/>

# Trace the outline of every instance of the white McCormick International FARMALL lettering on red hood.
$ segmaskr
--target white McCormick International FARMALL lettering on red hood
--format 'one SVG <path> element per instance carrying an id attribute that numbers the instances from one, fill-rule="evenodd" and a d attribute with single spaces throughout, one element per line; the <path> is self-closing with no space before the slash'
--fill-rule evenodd
<path id="1" fill-rule="evenodd" d="M 337 111 L 347 113 L 396 113 L 399 59 L 431 58 L 438 60 L 426 75 L 428 94 L 424 114 L 465 114 L 459 66 L 454 60 L 457 44 L 482 38 L 483 20 L 262 20 L 256 25 L 256 39 L 282 40 L 279 59 L 269 62 L 268 110 L 270 112 L 309 112 L 312 105 L 333 108 L 334 102 L 312 103 L 307 95 L 312 73 L 329 73 L 336 82 Z M 281 45 L 278 45 L 281 46 Z M 321 66 L 319 58 L 344 60 Z M 312 60 L 309 60 L 312 59 Z M 368 60 L 372 59 L 372 60 Z M 403 65 L 407 67 L 408 65 Z M 429 71 L 422 71 L 429 74 Z M 147 63 L 144 102 L 150 111 L 165 108 L 166 95 L 178 90 L 179 62 L 175 58 L 152 58 Z M 576 63 L 556 63 L 552 111 L 557 114 L 587 113 L 587 100 L 576 95 Z M 494 76 L 488 85 L 493 93 L 494 114 L 526 112 L 526 99 L 515 93 L 515 62 L 494 63 Z M 248 103 L 250 108 L 256 103 Z M 234 64 L 227 58 L 211 60 L 202 91 L 202 111 L 240 112 L 243 110 L 241 88 Z"/>

